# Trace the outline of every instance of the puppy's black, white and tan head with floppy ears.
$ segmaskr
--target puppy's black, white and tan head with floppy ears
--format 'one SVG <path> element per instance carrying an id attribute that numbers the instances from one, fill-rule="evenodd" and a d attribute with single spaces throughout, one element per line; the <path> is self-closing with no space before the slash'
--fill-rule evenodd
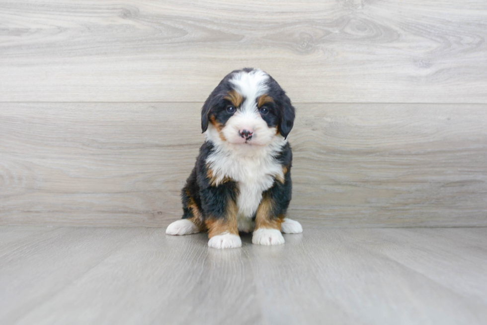
<path id="1" fill-rule="evenodd" d="M 265 146 L 286 138 L 294 125 L 294 107 L 279 84 L 259 69 L 229 73 L 201 110 L 201 129 L 213 141 Z"/>

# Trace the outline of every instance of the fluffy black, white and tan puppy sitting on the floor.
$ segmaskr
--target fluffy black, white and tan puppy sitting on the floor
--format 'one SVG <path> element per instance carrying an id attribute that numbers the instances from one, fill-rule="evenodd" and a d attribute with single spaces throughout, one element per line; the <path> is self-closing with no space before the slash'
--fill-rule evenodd
<path id="1" fill-rule="evenodd" d="M 242 246 L 239 231 L 253 231 L 260 245 L 302 232 L 286 218 L 294 117 L 286 93 L 264 71 L 244 68 L 223 78 L 201 110 L 206 142 L 181 193 L 182 219 L 166 234 L 208 231 L 209 247 L 233 248 Z"/>

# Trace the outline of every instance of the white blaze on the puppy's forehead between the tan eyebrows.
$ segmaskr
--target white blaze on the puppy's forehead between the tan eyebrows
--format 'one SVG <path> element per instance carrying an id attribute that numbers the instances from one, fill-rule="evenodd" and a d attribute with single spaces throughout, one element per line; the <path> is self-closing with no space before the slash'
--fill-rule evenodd
<path id="1" fill-rule="evenodd" d="M 230 82 L 235 86 L 235 90 L 245 98 L 243 104 L 245 109 L 249 109 L 255 107 L 256 99 L 269 89 L 266 84 L 268 79 L 267 73 L 256 69 L 250 72 L 238 72 L 230 79 Z"/>

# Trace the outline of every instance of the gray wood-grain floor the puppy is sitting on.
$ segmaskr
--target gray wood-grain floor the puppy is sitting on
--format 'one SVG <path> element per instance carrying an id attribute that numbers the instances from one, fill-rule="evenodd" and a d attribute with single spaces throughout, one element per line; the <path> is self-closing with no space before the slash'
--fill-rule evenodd
<path id="1" fill-rule="evenodd" d="M 486 324 L 487 228 L 284 236 L 0 227 L 0 324 Z"/>

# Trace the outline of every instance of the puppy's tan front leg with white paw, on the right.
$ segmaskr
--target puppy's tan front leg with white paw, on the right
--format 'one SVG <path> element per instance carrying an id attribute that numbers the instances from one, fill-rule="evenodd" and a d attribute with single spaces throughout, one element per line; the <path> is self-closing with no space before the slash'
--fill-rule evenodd
<path id="1" fill-rule="evenodd" d="M 262 201 L 255 214 L 255 230 L 252 244 L 279 245 L 284 244 L 281 234 L 282 215 L 275 215 L 275 202 L 268 192 L 264 192 Z"/>

